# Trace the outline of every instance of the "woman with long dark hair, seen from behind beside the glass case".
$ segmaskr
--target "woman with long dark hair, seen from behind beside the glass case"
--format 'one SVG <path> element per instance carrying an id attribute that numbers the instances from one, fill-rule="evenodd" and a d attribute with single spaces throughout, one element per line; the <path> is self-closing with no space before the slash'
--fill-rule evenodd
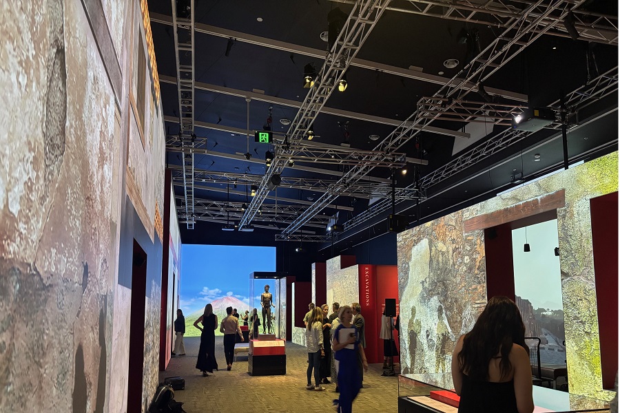
<path id="1" fill-rule="evenodd" d="M 531 413 L 532 370 L 525 326 L 514 301 L 492 297 L 452 354 L 459 413 Z"/>

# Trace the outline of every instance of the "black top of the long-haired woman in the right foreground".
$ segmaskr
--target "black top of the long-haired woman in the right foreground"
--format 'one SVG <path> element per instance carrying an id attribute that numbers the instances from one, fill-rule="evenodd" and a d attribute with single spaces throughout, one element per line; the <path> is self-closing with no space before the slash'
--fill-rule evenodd
<path id="1" fill-rule="evenodd" d="M 476 381 L 463 374 L 459 413 L 519 413 L 513 380 Z"/>

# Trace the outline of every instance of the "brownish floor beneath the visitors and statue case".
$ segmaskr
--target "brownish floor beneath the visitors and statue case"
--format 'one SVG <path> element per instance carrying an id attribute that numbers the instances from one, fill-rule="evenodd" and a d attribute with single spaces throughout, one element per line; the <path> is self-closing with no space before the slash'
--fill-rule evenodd
<path id="1" fill-rule="evenodd" d="M 220 371 L 203 377 L 196 370 L 199 337 L 186 337 L 187 355 L 173 357 L 160 381 L 165 377 L 185 379 L 185 390 L 175 392 L 174 399 L 185 403 L 187 413 L 198 412 L 333 412 L 331 403 L 338 399 L 335 385 L 327 390 L 306 390 L 307 351 L 287 341 L 287 374 L 285 376 L 252 377 L 247 373 L 247 356 L 239 355 L 232 370 L 226 370 L 223 338 L 216 337 L 216 359 Z M 353 403 L 355 413 L 396 412 L 397 377 L 382 377 L 382 364 L 372 364 L 364 374 L 364 388 Z M 314 382 L 314 380 L 313 380 Z"/>

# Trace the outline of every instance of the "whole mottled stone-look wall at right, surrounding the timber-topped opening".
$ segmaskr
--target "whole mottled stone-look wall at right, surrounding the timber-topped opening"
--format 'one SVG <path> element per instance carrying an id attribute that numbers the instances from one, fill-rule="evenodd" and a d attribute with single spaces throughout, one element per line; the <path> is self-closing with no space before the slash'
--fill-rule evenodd
<path id="1" fill-rule="evenodd" d="M 612 398 L 601 388 L 589 200 L 618 190 L 617 152 L 398 235 L 405 374 L 449 372 L 455 341 L 486 305 L 484 230 L 465 232 L 464 222 L 561 190 L 565 205 L 557 209 L 557 227 L 570 392 Z"/>

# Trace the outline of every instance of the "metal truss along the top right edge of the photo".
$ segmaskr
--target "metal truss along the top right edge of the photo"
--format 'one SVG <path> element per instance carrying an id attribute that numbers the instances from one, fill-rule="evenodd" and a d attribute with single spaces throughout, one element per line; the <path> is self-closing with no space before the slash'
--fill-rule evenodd
<path id="1" fill-rule="evenodd" d="M 353 3 L 352 0 L 331 0 L 338 3 Z M 480 25 L 488 25 L 493 28 L 508 28 L 515 19 L 519 19 L 521 11 L 528 8 L 533 1 L 486 1 L 479 3 L 471 0 L 439 1 L 439 0 L 409 0 L 407 7 L 388 7 L 387 10 L 418 14 L 439 19 L 456 21 L 469 21 Z M 536 10 L 526 17 L 526 21 L 532 22 L 539 17 Z M 575 29 L 579 33 L 577 39 L 618 45 L 618 17 L 610 14 L 588 12 L 587 10 L 573 10 Z M 570 34 L 562 19 L 557 15 L 550 15 L 541 22 L 544 30 L 548 25 L 553 25 L 553 30 L 547 32 L 553 36 L 570 38 Z M 557 24 L 560 23 L 560 24 Z"/>

